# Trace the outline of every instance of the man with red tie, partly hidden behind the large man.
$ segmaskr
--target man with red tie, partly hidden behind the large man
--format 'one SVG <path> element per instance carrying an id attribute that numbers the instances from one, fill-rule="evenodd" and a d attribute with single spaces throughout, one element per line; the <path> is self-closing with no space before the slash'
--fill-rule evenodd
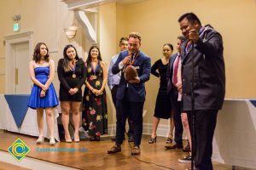
<path id="1" fill-rule="evenodd" d="M 183 149 L 183 123 L 181 120 L 181 99 L 178 99 L 177 86 L 181 84 L 181 80 L 178 80 L 178 67 L 181 66 L 181 43 L 184 37 L 177 37 L 177 53 L 172 54 L 169 61 L 169 68 L 167 70 L 168 88 L 167 92 L 171 93 L 173 120 L 175 126 L 174 144 L 166 145 L 166 149 Z M 181 75 L 179 75 L 181 77 Z"/>

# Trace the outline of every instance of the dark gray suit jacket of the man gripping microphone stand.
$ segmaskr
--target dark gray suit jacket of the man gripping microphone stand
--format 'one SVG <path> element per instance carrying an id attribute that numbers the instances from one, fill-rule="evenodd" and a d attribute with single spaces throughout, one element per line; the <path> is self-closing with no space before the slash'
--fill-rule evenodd
<path id="1" fill-rule="evenodd" d="M 225 69 L 221 35 L 205 26 L 193 49 L 182 44 L 183 111 L 191 111 L 192 59 L 195 61 L 195 110 L 219 110 L 225 94 Z M 194 54 L 194 56 L 192 56 Z"/>

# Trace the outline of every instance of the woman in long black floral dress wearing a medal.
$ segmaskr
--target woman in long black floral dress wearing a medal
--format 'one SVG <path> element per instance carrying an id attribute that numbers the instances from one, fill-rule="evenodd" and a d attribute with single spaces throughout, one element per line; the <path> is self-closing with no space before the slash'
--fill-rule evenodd
<path id="1" fill-rule="evenodd" d="M 90 141 L 99 141 L 102 134 L 108 133 L 108 114 L 105 86 L 108 79 L 107 64 L 102 61 L 100 49 L 92 46 L 85 66 L 82 126 L 88 130 Z"/>

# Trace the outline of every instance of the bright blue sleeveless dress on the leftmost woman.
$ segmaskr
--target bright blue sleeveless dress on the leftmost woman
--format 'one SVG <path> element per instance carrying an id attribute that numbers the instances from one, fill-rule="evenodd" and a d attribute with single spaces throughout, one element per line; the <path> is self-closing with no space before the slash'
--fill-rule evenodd
<path id="1" fill-rule="evenodd" d="M 49 77 L 49 67 L 37 67 L 34 69 L 36 79 L 45 84 Z M 48 90 L 43 98 L 40 97 L 41 88 L 34 84 L 28 100 L 28 107 L 32 109 L 55 107 L 59 105 L 57 95 L 55 93 L 55 87 L 50 83 Z"/>

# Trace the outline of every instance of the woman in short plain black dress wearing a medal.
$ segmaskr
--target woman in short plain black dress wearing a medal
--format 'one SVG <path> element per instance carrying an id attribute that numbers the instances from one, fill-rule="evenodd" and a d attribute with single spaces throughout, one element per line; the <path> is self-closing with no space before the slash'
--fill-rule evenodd
<path id="1" fill-rule="evenodd" d="M 83 59 L 79 58 L 76 48 L 67 45 L 63 50 L 64 59 L 58 63 L 58 77 L 60 80 L 60 101 L 61 101 L 61 121 L 65 130 L 66 142 L 72 142 L 68 131 L 69 112 L 73 113 L 74 141 L 79 142 L 79 109 L 82 100 L 82 90 L 86 69 Z"/>

